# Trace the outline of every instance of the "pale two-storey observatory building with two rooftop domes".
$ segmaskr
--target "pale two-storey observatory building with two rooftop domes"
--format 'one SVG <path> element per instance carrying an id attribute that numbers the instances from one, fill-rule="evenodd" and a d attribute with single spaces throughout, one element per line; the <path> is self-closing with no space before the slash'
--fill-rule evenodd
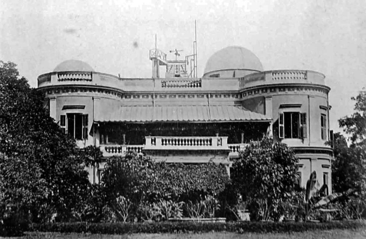
<path id="1" fill-rule="evenodd" d="M 99 146 L 104 157 L 136 151 L 170 163 L 212 160 L 229 172 L 238 151 L 269 135 L 295 150 L 301 186 L 315 170 L 332 188 L 333 150 L 325 144 L 330 88 L 323 74 L 264 70 L 250 50 L 229 46 L 208 59 L 199 78 L 196 55 L 167 59 L 150 50 L 152 78 L 120 78 L 64 61 L 38 77 L 38 89 L 78 147 Z M 92 182 L 103 168 L 88 169 Z"/>

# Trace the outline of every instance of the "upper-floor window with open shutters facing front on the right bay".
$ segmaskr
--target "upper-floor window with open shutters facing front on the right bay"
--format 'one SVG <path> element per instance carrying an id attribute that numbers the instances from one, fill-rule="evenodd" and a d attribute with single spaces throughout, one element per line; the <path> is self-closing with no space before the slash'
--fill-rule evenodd
<path id="1" fill-rule="evenodd" d="M 306 137 L 306 113 L 279 113 L 279 138 L 302 139 Z"/>

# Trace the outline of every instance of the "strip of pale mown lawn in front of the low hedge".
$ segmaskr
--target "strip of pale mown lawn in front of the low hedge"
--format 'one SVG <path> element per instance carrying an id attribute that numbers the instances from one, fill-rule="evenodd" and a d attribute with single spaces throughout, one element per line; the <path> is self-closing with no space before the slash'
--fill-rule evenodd
<path id="1" fill-rule="evenodd" d="M 190 234 L 190 233 L 178 233 L 178 234 L 131 234 L 131 235 L 106 235 L 106 234 L 76 234 L 76 233 L 57 233 L 57 232 L 27 232 L 25 236 L 18 237 L 19 239 L 39 238 L 39 239 L 236 239 L 236 238 L 249 238 L 249 239 L 290 239 L 290 238 L 314 238 L 314 239 L 344 239 L 344 238 L 366 238 L 366 229 L 358 230 L 329 230 L 329 231 L 312 231 L 312 232 L 291 232 L 291 233 L 243 233 L 236 234 L 232 232 L 209 232 L 202 234 Z"/>

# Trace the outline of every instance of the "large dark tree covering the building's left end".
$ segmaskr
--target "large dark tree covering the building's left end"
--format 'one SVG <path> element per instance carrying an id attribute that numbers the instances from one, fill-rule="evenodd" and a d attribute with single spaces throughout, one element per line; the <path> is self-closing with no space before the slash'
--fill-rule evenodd
<path id="1" fill-rule="evenodd" d="M 16 65 L 0 61 L 0 201 L 66 218 L 89 181 L 82 153 L 44 109 L 44 95 L 30 88 Z"/>

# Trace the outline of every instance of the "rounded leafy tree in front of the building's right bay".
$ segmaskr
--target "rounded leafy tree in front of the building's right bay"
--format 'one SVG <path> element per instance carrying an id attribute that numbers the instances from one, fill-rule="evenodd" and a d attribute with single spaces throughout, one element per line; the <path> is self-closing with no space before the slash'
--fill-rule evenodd
<path id="1" fill-rule="evenodd" d="M 257 219 L 278 219 L 280 203 L 296 188 L 298 158 L 286 144 L 251 142 L 232 165 L 232 184 Z"/>

